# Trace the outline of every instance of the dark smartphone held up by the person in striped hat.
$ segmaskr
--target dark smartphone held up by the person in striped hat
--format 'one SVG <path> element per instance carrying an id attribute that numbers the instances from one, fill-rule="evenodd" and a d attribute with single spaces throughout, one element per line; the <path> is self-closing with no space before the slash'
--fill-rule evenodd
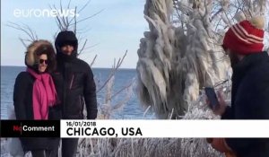
<path id="1" fill-rule="evenodd" d="M 205 87 L 204 92 L 209 100 L 209 107 L 211 109 L 217 109 L 220 106 L 219 100 L 217 98 L 216 92 L 212 87 Z"/>

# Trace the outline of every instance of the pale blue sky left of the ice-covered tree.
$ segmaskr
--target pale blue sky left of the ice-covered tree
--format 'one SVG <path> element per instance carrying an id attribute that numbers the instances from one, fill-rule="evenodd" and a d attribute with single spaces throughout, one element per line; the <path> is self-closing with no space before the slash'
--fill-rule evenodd
<path id="1" fill-rule="evenodd" d="M 68 0 L 62 0 L 67 6 Z M 140 39 L 143 31 L 148 31 L 148 24 L 143 18 L 145 0 L 91 0 L 90 4 L 80 13 L 79 19 L 98 13 L 86 22 L 81 22 L 78 29 L 89 30 L 81 34 L 88 39 L 87 49 L 81 56 L 91 63 L 92 58 L 98 55 L 93 67 L 111 67 L 114 58 L 122 57 L 128 49 L 123 68 L 135 68 L 138 57 Z M 71 8 L 77 5 L 82 8 L 88 0 L 71 1 Z M 16 17 L 14 10 L 27 12 L 30 9 L 50 9 L 49 4 L 59 6 L 59 0 L 9 0 L 1 2 L 1 65 L 24 65 L 24 52 L 19 37 L 25 38 L 22 31 L 7 27 L 7 22 L 24 23 L 39 36 L 39 39 L 48 39 L 53 42 L 53 35 L 57 30 L 53 17 Z"/>

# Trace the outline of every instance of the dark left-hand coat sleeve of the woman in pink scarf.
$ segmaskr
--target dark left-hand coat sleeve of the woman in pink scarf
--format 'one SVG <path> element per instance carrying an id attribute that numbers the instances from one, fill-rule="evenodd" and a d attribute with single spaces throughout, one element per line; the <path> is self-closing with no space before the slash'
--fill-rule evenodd
<path id="1" fill-rule="evenodd" d="M 16 119 L 25 120 L 26 116 L 26 94 L 28 93 L 27 75 L 25 73 L 18 74 L 13 91 L 13 105 Z"/>

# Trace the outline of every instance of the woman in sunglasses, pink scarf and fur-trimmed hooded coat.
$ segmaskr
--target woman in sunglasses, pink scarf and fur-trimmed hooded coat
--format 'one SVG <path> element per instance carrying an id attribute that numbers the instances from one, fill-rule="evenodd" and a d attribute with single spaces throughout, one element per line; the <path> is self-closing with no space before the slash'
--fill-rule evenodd
<path id="1" fill-rule="evenodd" d="M 57 107 L 56 89 L 50 73 L 56 68 L 56 53 L 47 40 L 36 40 L 27 48 L 25 72 L 18 74 L 13 92 L 16 119 L 47 120 Z M 24 153 L 33 157 L 55 157 L 59 138 L 20 138 Z"/>

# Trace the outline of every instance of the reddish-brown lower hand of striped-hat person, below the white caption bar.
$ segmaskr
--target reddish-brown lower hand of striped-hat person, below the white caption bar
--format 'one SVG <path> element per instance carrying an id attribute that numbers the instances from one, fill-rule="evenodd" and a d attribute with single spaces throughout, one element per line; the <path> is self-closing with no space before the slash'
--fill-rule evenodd
<path id="1" fill-rule="evenodd" d="M 225 138 L 206 138 L 206 141 L 211 144 L 215 150 L 225 153 L 226 157 L 236 157 L 236 154 L 233 153 L 229 145 L 226 144 Z"/>

